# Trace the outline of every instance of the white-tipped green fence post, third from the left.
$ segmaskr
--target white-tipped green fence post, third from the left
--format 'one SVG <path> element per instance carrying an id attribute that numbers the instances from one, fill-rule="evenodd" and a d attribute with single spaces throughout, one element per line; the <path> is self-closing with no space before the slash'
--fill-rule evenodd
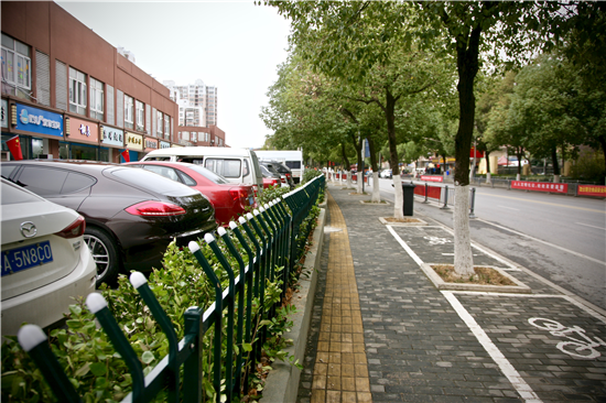
<path id="1" fill-rule="evenodd" d="M 134 272 L 130 275 L 130 283 L 141 295 L 141 298 L 150 308 L 151 314 L 166 335 L 169 340 L 169 401 L 178 402 L 178 361 L 176 360 L 176 355 L 178 353 L 178 339 L 174 330 L 173 324 L 166 313 L 160 306 L 160 303 L 153 295 L 150 286 L 148 285 L 148 280 L 141 272 Z"/>

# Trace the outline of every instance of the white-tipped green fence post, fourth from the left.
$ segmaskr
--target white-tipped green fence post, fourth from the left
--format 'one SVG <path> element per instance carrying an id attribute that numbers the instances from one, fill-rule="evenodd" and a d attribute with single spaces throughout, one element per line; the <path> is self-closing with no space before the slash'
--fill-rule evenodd
<path id="1" fill-rule="evenodd" d="M 207 233 L 208 235 L 208 233 Z M 220 403 L 221 397 L 221 315 L 223 315 L 223 290 L 219 282 L 219 279 L 208 264 L 208 261 L 199 250 L 199 244 L 197 242 L 191 241 L 190 251 L 197 259 L 198 263 L 202 265 L 202 269 L 208 276 L 208 280 L 215 287 L 215 339 L 213 346 L 214 359 L 213 359 L 213 386 L 215 388 L 216 402 Z"/>

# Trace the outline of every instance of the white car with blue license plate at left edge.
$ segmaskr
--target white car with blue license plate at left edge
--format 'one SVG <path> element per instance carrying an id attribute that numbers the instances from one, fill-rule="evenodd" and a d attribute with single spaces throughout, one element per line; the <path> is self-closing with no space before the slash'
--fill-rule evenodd
<path id="1" fill-rule="evenodd" d="M 73 297 L 95 291 L 96 265 L 84 241 L 85 220 L 2 178 L 2 335 L 26 322 L 63 319 Z"/>

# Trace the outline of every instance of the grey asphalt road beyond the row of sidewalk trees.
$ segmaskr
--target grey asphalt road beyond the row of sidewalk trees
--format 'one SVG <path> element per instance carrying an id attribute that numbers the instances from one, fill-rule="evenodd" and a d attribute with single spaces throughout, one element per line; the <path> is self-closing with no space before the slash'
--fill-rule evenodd
<path id="1" fill-rule="evenodd" d="M 379 183 L 381 197 L 393 202 L 392 181 Z M 453 227 L 452 208 L 421 202 L 415 214 Z M 474 241 L 606 309 L 604 199 L 477 187 L 474 213 Z"/>

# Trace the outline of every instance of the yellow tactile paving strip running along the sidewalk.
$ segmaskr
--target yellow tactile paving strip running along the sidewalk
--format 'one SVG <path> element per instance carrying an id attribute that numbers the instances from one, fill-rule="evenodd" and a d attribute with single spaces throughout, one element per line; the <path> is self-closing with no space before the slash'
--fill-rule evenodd
<path id="1" fill-rule="evenodd" d="M 343 214 L 328 192 L 331 232 L 326 291 L 311 403 L 372 402 L 358 285 Z"/>

